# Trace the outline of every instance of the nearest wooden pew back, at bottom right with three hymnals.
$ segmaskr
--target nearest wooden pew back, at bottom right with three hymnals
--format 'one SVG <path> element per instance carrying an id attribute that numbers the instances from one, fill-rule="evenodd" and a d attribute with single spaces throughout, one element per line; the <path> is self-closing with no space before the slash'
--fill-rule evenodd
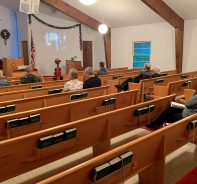
<path id="1" fill-rule="evenodd" d="M 197 128 L 189 131 L 186 127 L 189 122 L 196 119 L 197 115 L 190 116 L 40 181 L 37 184 L 93 184 L 94 182 L 90 180 L 90 175 L 94 168 L 128 151 L 134 154 L 132 162 L 125 165 L 124 169 L 120 168 L 95 183 L 119 184 L 138 174 L 139 183 L 164 184 L 165 157 L 192 140 L 192 134 L 194 131 L 197 133 Z"/>

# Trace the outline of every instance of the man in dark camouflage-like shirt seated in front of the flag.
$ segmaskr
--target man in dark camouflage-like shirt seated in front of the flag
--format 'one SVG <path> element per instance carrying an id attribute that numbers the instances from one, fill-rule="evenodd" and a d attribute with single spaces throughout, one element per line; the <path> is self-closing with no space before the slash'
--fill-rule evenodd
<path id="1" fill-rule="evenodd" d="M 41 78 L 34 75 L 32 66 L 27 66 L 25 68 L 27 74 L 20 78 L 21 84 L 28 84 L 28 83 L 35 83 L 35 82 L 42 82 Z"/>

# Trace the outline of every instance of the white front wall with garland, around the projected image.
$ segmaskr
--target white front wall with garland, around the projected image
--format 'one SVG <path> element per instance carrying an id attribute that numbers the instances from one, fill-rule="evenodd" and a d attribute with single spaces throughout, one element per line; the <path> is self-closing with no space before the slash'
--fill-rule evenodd
<path id="1" fill-rule="evenodd" d="M 59 27 L 68 27 L 75 24 L 78 24 L 76 20 L 70 18 L 69 16 L 58 12 L 57 14 L 51 13 L 50 6 L 45 4 L 41 4 L 41 11 L 42 13 L 37 14 L 36 16 L 43 20 L 44 22 L 59 26 Z M 62 74 L 65 74 L 66 71 L 66 60 L 70 60 L 73 56 L 77 56 L 77 61 L 82 61 L 82 50 L 80 50 L 79 44 L 79 28 L 73 28 L 68 30 L 59 30 L 47 27 L 43 25 L 39 21 L 37 21 L 34 17 L 32 17 L 32 23 L 28 25 L 28 32 L 29 32 L 29 41 L 31 36 L 31 31 L 33 33 L 33 40 L 35 45 L 35 62 L 36 68 L 38 69 L 41 75 L 53 75 L 54 68 L 56 65 L 54 60 L 59 58 L 62 62 L 60 63 L 60 68 L 62 69 Z M 57 52 L 54 48 L 51 49 L 50 52 L 48 51 L 49 48 L 43 47 L 44 42 L 44 33 L 45 32 L 66 32 L 68 35 L 68 42 L 69 44 L 66 45 L 66 50 L 63 52 Z M 93 43 L 93 68 L 99 68 L 99 62 L 105 62 L 105 53 L 104 53 L 104 43 L 103 43 L 103 36 L 85 25 L 82 25 L 82 41 L 92 41 Z M 30 42 L 29 42 L 30 47 Z"/>

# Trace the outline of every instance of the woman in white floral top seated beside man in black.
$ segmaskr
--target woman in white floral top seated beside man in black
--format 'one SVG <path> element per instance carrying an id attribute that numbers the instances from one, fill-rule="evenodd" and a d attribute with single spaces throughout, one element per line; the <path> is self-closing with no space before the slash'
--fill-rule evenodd
<path id="1" fill-rule="evenodd" d="M 78 80 L 78 71 L 71 68 L 68 73 L 69 81 L 65 83 L 63 91 L 83 89 L 83 82 Z"/>

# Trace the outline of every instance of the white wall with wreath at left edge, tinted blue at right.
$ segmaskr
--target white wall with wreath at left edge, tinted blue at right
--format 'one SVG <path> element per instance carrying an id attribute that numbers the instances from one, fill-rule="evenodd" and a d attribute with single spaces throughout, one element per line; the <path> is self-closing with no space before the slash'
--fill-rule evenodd
<path id="1" fill-rule="evenodd" d="M 0 6 L 0 32 L 7 29 L 10 32 L 10 38 L 7 40 L 7 45 L 4 45 L 4 40 L 0 36 L 0 58 L 18 57 L 17 41 L 16 41 L 16 22 L 13 11 Z"/>

